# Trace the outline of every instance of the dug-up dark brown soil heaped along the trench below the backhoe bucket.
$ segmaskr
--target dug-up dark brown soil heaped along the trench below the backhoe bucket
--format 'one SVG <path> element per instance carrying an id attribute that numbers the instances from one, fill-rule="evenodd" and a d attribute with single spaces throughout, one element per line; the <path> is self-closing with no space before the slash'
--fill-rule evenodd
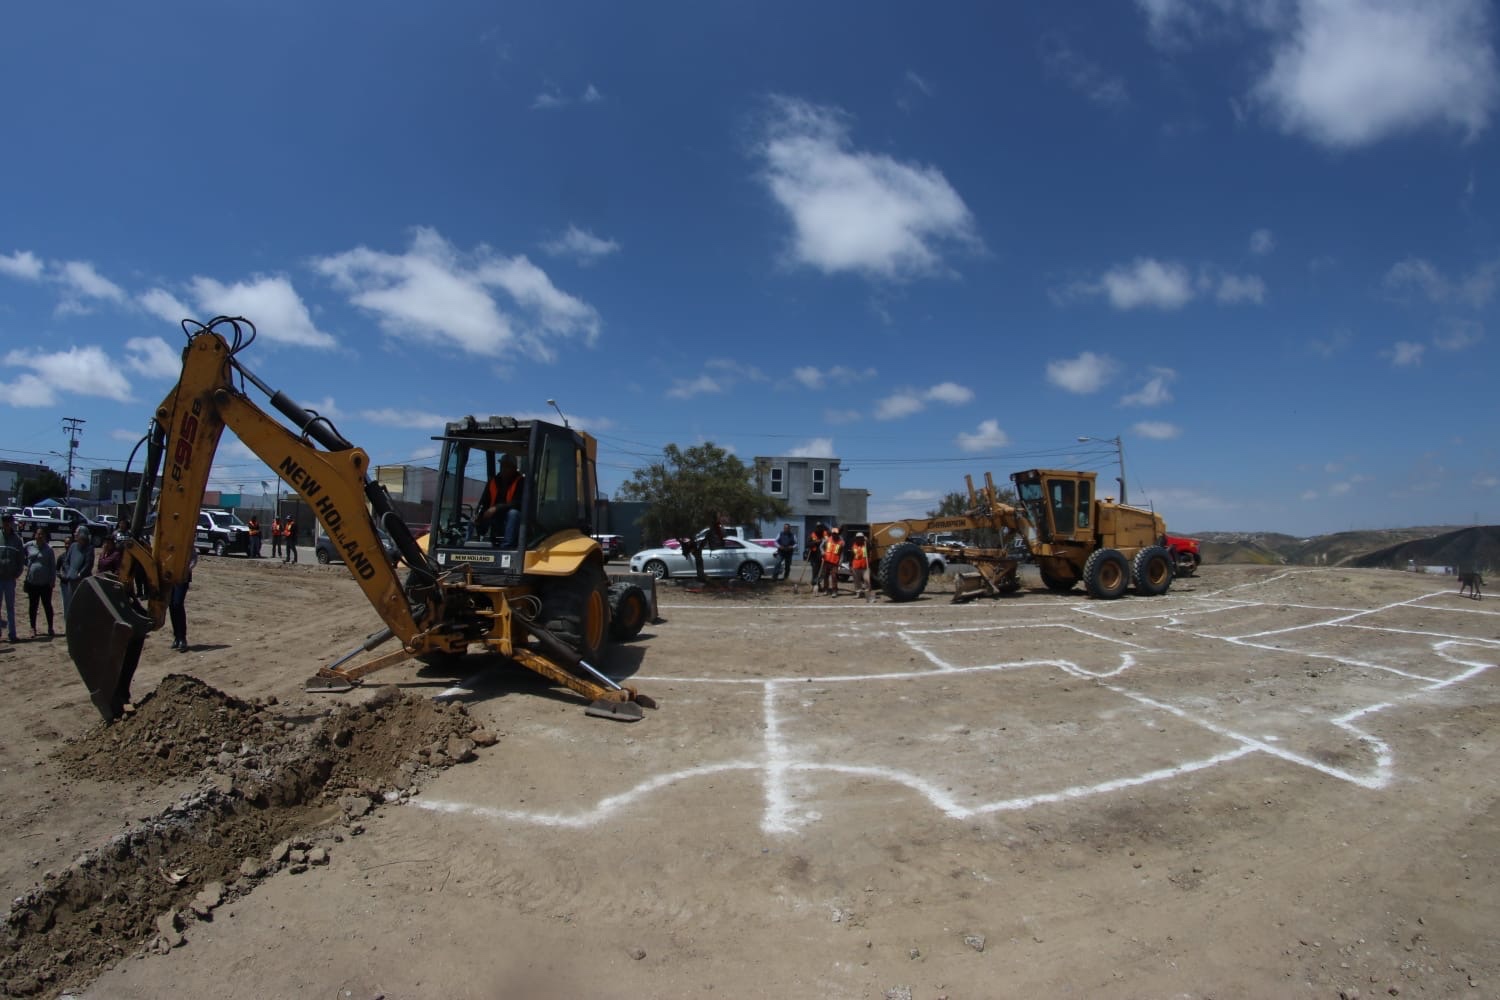
<path id="1" fill-rule="evenodd" d="M 327 844 L 363 832 L 358 820 L 370 810 L 416 795 L 424 774 L 494 742 L 464 705 L 393 687 L 309 720 L 278 715 L 274 700 L 248 703 L 196 678 L 165 678 L 134 714 L 57 757 L 96 781 L 200 775 L 198 787 L 14 901 L 0 996 L 57 996 L 142 948 L 186 943 L 184 930 L 258 879 L 327 862 Z M 342 826 L 328 823 L 340 816 Z"/>

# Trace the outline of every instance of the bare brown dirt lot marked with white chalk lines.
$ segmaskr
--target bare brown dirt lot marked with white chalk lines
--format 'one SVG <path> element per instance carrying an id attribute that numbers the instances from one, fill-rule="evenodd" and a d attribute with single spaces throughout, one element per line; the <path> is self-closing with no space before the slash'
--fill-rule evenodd
<path id="1" fill-rule="evenodd" d="M 0 993 L 1500 996 L 1500 601 L 950 588 L 663 586 L 636 724 L 504 663 L 306 694 L 378 627 L 310 559 L 200 562 L 114 727 L 0 646 Z"/>

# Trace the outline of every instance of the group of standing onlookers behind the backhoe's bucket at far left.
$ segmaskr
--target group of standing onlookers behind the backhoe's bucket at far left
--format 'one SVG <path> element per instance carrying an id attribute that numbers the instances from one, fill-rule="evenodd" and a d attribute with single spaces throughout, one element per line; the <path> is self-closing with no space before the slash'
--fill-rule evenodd
<path id="1" fill-rule="evenodd" d="M 20 642 L 16 634 L 15 585 L 20 580 L 27 598 L 27 610 L 32 621 L 32 639 L 40 639 L 38 631 L 38 612 L 46 621 L 46 637 L 57 636 L 56 613 L 52 610 L 52 591 L 62 586 L 63 618 L 72 606 L 74 594 L 94 573 L 118 573 L 123 553 L 114 537 L 105 538 L 99 552 L 94 552 L 88 529 L 80 528 L 63 553 L 52 549 L 51 532 L 39 526 L 30 541 L 21 538 L 15 526 L 15 516 L 4 514 L 0 522 L 0 610 L 4 612 L 4 628 L 8 642 Z M 192 567 L 198 562 L 194 552 L 188 567 L 188 574 L 182 583 L 172 588 L 168 610 L 172 619 L 172 649 L 188 649 L 188 585 L 192 582 Z"/>

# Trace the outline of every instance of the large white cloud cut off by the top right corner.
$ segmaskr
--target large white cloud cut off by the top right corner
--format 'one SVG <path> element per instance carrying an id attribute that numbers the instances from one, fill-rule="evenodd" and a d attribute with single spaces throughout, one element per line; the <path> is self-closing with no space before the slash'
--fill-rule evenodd
<path id="1" fill-rule="evenodd" d="M 1485 129 L 1500 99 L 1485 0 L 1300 0 L 1252 94 L 1287 133 L 1352 148 Z"/>

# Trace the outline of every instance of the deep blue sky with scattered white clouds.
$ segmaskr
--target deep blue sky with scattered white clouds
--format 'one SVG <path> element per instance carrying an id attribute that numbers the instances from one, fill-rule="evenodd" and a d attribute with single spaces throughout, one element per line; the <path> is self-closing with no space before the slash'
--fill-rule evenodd
<path id="1" fill-rule="evenodd" d="M 1484 0 L 0 7 L 0 457 L 120 466 L 177 321 L 378 463 L 466 412 L 837 456 L 872 516 L 1500 523 Z M 81 478 L 81 474 L 80 474 Z M 226 438 L 214 484 L 267 471 Z"/>

